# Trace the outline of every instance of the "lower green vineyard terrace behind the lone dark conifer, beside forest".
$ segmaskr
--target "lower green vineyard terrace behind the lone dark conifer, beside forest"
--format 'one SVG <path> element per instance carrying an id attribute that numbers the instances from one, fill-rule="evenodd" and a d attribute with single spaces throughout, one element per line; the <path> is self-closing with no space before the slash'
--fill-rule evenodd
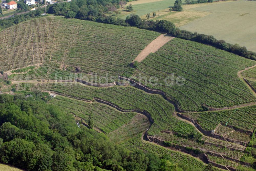
<path id="1" fill-rule="evenodd" d="M 74 114 L 88 123 L 91 114 L 94 125 L 105 133 L 118 129 L 136 115 L 134 112 L 120 112 L 105 104 L 84 102 L 63 96 L 50 100 L 50 104 L 60 106 L 66 112 Z"/>

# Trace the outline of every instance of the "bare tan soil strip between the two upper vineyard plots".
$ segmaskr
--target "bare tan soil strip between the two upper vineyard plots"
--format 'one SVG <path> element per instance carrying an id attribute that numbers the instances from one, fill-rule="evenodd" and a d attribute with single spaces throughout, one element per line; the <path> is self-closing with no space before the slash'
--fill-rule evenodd
<path id="1" fill-rule="evenodd" d="M 158 49 L 164 46 L 168 41 L 172 40 L 174 37 L 169 36 L 167 34 L 161 34 L 155 40 L 153 40 L 150 44 L 148 44 L 145 49 L 143 49 L 140 54 L 133 60 L 141 62 L 145 59 L 150 53 L 155 53 Z"/>

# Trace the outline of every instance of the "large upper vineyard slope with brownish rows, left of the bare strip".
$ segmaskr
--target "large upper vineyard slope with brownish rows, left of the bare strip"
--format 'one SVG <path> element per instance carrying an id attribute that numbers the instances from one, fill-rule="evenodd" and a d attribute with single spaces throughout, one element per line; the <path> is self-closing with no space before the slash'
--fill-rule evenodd
<path id="1" fill-rule="evenodd" d="M 12 80 L 53 79 L 55 73 L 129 76 L 129 64 L 160 34 L 142 29 L 63 17 L 29 20 L 2 32 L 0 71 L 15 70 Z M 20 69 L 41 64 L 39 69 Z M 69 70 L 70 69 L 70 70 Z M 109 82 L 109 81 L 108 81 Z"/>

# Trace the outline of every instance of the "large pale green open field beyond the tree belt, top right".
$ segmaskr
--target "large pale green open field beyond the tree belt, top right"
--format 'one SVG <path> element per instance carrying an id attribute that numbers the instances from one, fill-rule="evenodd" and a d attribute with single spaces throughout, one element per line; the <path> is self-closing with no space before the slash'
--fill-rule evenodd
<path id="1" fill-rule="evenodd" d="M 219 40 L 245 46 L 256 52 L 255 1 L 228 1 L 193 8 L 211 13 L 180 27 L 182 30 L 213 35 Z"/>

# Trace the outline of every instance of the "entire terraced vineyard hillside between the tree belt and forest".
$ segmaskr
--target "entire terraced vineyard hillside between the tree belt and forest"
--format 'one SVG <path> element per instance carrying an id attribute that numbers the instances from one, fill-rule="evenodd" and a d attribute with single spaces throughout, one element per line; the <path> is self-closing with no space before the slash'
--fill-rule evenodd
<path id="1" fill-rule="evenodd" d="M 171 162 L 187 169 L 203 170 L 208 162 L 231 169 L 249 165 L 239 160 L 247 155 L 246 144 L 256 127 L 256 98 L 239 77 L 256 87 L 256 69 L 238 71 L 255 65 L 255 61 L 174 38 L 132 68 L 130 63 L 159 33 L 63 17 L 29 20 L 1 33 L 5 43 L 0 44 L 0 71 L 13 81 L 12 85 L 7 85 L 7 80 L 0 82 L 2 92 L 39 90 L 59 94 L 48 103 L 87 123 L 91 115 L 94 126 L 111 142 L 130 150 L 170 155 Z M 128 86 L 127 81 L 125 86 L 112 83 L 107 88 L 74 81 L 98 82 L 100 76 L 106 76 L 103 80 L 108 83 L 118 76 L 135 76 L 135 81 L 154 90 Z M 151 76 L 158 78 L 156 85 L 144 80 Z M 185 81 L 179 83 L 184 85 L 178 85 L 176 79 L 182 77 Z M 173 84 L 167 86 L 171 79 Z M 173 102 L 178 105 L 176 111 Z M 223 108 L 245 103 L 248 106 Z M 218 111 L 195 112 L 207 109 L 205 105 Z M 210 134 L 211 130 L 215 135 Z M 143 140 L 142 135 L 152 142 Z M 201 160 L 177 151 L 200 156 Z"/>

